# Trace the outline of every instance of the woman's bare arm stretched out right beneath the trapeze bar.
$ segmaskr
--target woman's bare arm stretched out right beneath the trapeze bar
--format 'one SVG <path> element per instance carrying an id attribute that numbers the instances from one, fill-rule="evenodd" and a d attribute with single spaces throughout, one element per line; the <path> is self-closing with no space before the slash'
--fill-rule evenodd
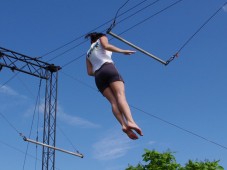
<path id="1" fill-rule="evenodd" d="M 108 42 L 108 38 L 106 36 L 102 36 L 100 38 L 100 43 L 102 44 L 103 48 L 105 50 L 108 50 L 108 51 L 112 51 L 112 52 L 117 52 L 117 53 L 123 53 L 123 54 L 126 54 L 126 55 L 130 55 L 130 54 L 134 54 L 135 51 L 132 51 L 132 50 L 123 50 L 121 48 L 118 48 L 112 44 L 109 44 Z"/>

